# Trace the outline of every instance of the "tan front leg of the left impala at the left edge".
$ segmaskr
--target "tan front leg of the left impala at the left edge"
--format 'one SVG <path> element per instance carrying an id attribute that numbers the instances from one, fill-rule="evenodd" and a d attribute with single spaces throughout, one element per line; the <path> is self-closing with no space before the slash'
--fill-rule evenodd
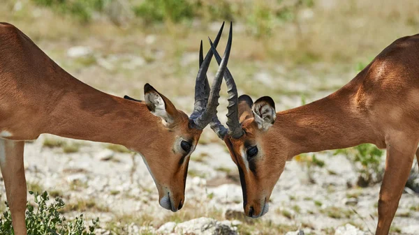
<path id="1" fill-rule="evenodd" d="M 24 212 L 27 203 L 27 185 L 23 166 L 24 142 L 0 139 L 0 167 L 6 186 L 6 197 L 12 213 L 15 235 L 26 235 Z"/>

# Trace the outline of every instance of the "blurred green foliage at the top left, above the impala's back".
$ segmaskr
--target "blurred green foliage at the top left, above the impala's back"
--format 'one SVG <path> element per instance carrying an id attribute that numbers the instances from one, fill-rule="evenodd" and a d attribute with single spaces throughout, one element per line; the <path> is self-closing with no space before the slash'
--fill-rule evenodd
<path id="1" fill-rule="evenodd" d="M 112 0 L 32 0 L 39 6 L 50 7 L 61 14 L 78 17 L 82 22 L 89 22 L 95 11 L 103 10 L 105 3 Z"/>

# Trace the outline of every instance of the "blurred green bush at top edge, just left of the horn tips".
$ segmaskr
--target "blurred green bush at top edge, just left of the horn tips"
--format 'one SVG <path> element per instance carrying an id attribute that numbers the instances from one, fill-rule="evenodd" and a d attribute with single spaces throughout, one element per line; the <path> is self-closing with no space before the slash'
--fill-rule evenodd
<path id="1" fill-rule="evenodd" d="M 146 22 L 181 22 L 191 20 L 193 5 L 185 0 L 145 0 L 134 7 L 134 13 Z"/>

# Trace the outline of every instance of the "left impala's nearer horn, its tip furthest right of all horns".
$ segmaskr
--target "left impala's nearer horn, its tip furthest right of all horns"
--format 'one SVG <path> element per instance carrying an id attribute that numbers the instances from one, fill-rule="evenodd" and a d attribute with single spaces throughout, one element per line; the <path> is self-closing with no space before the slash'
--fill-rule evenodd
<path id="1" fill-rule="evenodd" d="M 233 40 L 233 22 L 230 23 L 230 32 L 228 33 L 228 42 L 226 45 L 226 51 L 224 52 L 223 59 L 221 60 L 219 69 L 216 71 L 214 81 L 212 82 L 210 97 L 208 99 L 207 108 L 195 119 L 196 126 L 204 127 L 212 121 L 212 118 L 216 115 L 216 107 L 219 105 L 218 99 L 220 97 L 219 92 L 221 89 L 221 82 L 226 72 L 228 57 L 230 56 L 231 43 Z M 204 60 L 205 63 L 205 60 Z"/>

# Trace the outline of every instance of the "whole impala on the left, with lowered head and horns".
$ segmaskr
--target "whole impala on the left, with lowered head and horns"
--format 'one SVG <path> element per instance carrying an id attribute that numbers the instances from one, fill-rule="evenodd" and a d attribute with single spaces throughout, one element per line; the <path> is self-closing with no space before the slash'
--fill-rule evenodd
<path id="1" fill-rule="evenodd" d="M 0 23 L 0 166 L 15 234 L 27 233 L 24 140 L 41 133 L 122 144 L 137 151 L 159 190 L 160 205 L 181 209 L 189 156 L 216 114 L 231 37 L 230 29 L 211 91 L 206 73 L 212 50 L 200 59 L 195 105 L 188 117 L 149 84 L 143 102 L 98 91 L 66 73 L 15 26 Z"/>

